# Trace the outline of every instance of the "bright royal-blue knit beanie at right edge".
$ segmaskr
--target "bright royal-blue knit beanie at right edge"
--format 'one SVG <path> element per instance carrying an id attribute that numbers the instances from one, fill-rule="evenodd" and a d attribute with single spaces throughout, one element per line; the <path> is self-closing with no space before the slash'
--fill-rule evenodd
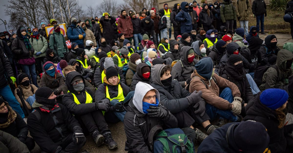
<path id="1" fill-rule="evenodd" d="M 260 102 L 268 108 L 280 108 L 288 100 L 288 94 L 282 89 L 266 89 L 260 94 Z"/>

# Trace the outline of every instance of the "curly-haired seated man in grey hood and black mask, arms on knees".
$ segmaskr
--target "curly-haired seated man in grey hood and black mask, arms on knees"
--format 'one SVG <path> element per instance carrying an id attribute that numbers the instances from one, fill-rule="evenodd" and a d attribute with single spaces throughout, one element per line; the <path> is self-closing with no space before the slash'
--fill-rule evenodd
<path id="1" fill-rule="evenodd" d="M 192 124 L 195 120 L 197 124 L 204 126 L 208 134 L 211 134 L 218 127 L 209 122 L 209 116 L 205 113 L 205 101 L 200 98 L 201 91 L 190 93 L 185 90 L 178 81 L 172 80 L 171 69 L 170 65 L 162 64 L 151 68 L 153 79 L 151 86 L 159 91 L 161 104 L 177 118 L 179 128 L 193 128 Z M 200 131 L 196 131 L 196 134 L 200 136 L 197 139 L 201 141 L 207 137 Z"/>

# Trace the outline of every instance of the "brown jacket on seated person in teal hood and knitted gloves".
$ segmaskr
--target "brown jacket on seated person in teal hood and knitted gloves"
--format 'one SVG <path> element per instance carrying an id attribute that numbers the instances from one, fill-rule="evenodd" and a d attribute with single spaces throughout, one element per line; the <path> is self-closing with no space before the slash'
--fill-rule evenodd
<path id="1" fill-rule="evenodd" d="M 189 92 L 192 93 L 195 90 L 202 91 L 202 98 L 205 99 L 207 103 L 221 110 L 231 110 L 232 104 L 229 103 L 229 101 L 219 97 L 219 87 L 229 87 L 232 90 L 232 94 L 234 97 L 241 97 L 238 87 L 234 83 L 220 77 L 217 74 L 214 74 L 213 77 L 217 80 L 217 84 L 214 82 L 213 79 L 210 81 L 206 80 L 205 78 L 200 76 L 196 70 L 194 70 L 194 72 L 191 74 Z M 205 81 L 207 88 L 200 79 Z"/>

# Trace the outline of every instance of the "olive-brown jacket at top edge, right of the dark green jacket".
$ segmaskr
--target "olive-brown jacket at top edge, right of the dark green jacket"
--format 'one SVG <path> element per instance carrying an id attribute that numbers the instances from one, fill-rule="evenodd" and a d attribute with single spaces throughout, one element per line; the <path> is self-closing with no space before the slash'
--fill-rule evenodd
<path id="1" fill-rule="evenodd" d="M 235 5 L 236 15 L 240 17 L 239 21 L 247 21 L 251 13 L 251 5 L 249 0 L 238 0 Z"/>

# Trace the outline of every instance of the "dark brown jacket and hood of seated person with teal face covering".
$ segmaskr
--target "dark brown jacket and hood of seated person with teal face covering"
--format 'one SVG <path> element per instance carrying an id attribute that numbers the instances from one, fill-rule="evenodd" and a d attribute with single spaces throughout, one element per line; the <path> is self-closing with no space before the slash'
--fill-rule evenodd
<path id="1" fill-rule="evenodd" d="M 52 62 L 47 61 L 44 64 L 44 66 L 48 63 L 53 64 Z M 44 66 L 43 66 L 43 69 L 45 69 Z M 64 84 L 62 75 L 59 72 L 57 72 L 57 68 L 54 64 L 53 66 L 55 68 L 55 77 L 52 78 L 51 76 L 47 75 L 47 72 L 45 71 L 45 74 L 42 75 L 42 78 L 40 81 L 40 87 L 49 87 L 52 90 L 57 90 L 58 94 L 60 94 L 65 84 Z"/>

